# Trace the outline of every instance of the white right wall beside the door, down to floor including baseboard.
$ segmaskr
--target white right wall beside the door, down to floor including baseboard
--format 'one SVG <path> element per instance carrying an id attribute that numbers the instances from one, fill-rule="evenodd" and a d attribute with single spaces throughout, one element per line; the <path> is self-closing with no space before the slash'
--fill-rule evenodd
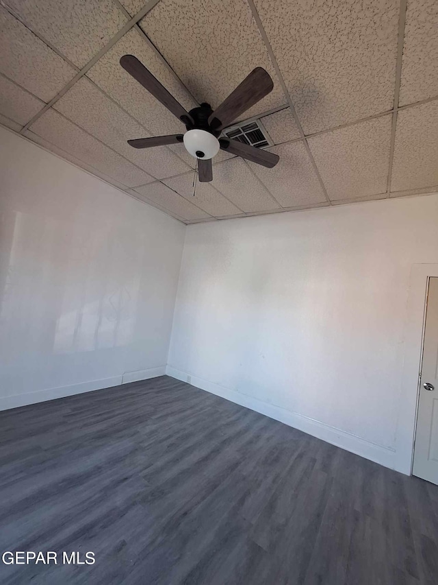
<path id="1" fill-rule="evenodd" d="M 409 473 L 415 263 L 438 263 L 438 195 L 189 226 L 167 371 Z"/>

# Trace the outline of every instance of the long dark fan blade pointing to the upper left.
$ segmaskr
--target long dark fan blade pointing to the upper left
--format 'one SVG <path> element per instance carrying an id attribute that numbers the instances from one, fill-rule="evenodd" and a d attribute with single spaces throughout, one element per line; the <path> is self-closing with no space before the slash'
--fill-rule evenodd
<path id="1" fill-rule="evenodd" d="M 144 67 L 144 64 L 138 58 L 133 55 L 123 55 L 120 58 L 120 65 L 179 120 L 183 121 L 183 123 L 194 123 L 190 114 L 184 110 L 183 106 L 177 102 L 175 97 L 152 75 L 151 71 Z"/>

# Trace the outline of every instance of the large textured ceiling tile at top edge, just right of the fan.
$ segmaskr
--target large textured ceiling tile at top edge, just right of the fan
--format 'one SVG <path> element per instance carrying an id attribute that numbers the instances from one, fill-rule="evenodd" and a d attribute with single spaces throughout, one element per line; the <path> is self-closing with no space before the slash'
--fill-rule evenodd
<path id="1" fill-rule="evenodd" d="M 255 0 L 306 134 L 390 110 L 400 0 Z"/>

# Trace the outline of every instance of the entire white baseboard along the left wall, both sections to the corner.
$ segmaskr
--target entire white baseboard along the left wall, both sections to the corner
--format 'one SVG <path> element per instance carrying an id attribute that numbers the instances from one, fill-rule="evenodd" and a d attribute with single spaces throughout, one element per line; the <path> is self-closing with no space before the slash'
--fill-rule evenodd
<path id="1" fill-rule="evenodd" d="M 159 366 L 158 368 L 148 368 L 147 370 L 137 370 L 136 372 L 125 372 L 120 376 L 113 376 L 111 378 L 90 380 L 88 382 L 70 384 L 57 388 L 47 388 L 45 390 L 37 390 L 36 392 L 28 392 L 27 394 L 18 394 L 16 396 L 4 396 L 0 398 L 0 410 L 27 406 L 29 404 L 54 400 L 55 398 L 64 398 L 64 396 L 73 396 L 73 394 L 83 394 L 83 392 L 92 392 L 93 390 L 102 390 L 103 388 L 127 384 L 128 382 L 148 380 L 149 378 L 164 376 L 165 373 L 166 366 Z"/>

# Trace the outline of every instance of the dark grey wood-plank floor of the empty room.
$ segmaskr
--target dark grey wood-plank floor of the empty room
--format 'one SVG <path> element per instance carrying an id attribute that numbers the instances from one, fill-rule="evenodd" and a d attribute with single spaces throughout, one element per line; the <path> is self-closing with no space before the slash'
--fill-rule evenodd
<path id="1" fill-rule="evenodd" d="M 0 552 L 58 553 L 1 584 L 438 583 L 437 486 L 169 377 L 0 412 L 0 438 Z"/>

